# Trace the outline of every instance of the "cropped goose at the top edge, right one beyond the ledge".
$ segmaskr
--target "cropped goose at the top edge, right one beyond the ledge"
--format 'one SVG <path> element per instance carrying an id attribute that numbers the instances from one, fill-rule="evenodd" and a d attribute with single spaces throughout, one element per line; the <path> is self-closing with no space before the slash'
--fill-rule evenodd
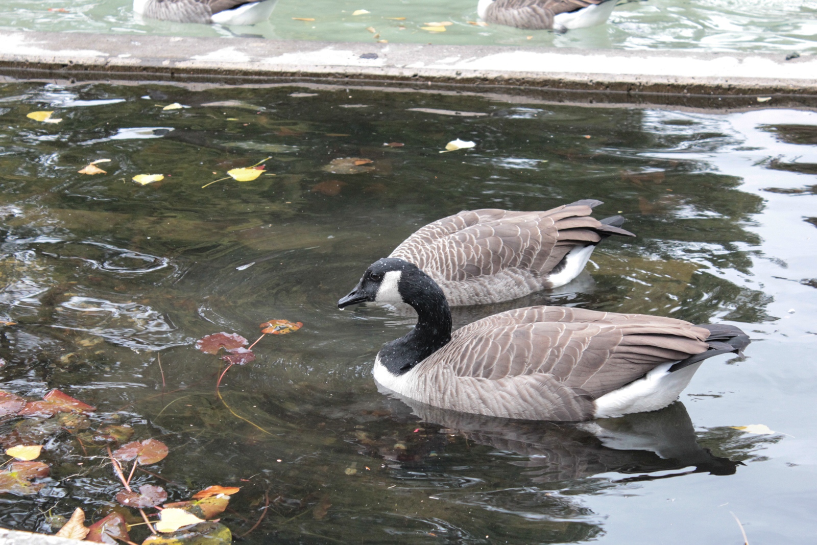
<path id="1" fill-rule="evenodd" d="M 616 0 L 480 0 L 479 16 L 518 29 L 583 29 L 604 25 Z"/>

